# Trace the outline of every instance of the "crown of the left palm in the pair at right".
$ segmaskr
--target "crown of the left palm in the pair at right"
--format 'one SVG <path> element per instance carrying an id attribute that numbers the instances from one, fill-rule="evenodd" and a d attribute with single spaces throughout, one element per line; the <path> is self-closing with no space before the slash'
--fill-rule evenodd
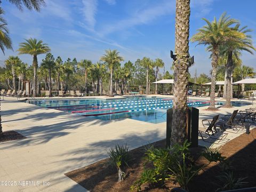
<path id="1" fill-rule="evenodd" d="M 203 20 L 207 24 L 198 29 L 198 33 L 190 39 L 191 42 L 198 42 L 197 45 L 203 44 L 217 47 L 225 44 L 227 38 L 237 35 L 237 30 L 234 30 L 231 26 L 238 23 L 238 21 L 227 17 L 226 13 L 223 13 L 218 21 L 215 17 L 212 22 L 205 18 Z M 208 47 L 207 51 L 210 51 L 209 49 L 211 47 Z"/>

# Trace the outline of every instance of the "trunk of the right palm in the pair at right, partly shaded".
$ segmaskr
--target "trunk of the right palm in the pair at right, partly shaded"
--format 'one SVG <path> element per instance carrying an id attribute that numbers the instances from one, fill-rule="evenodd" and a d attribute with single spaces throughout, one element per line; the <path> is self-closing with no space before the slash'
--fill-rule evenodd
<path id="1" fill-rule="evenodd" d="M 228 62 L 227 62 L 227 95 L 226 95 L 226 105 L 225 107 L 231 107 L 231 75 L 232 75 L 232 52 L 228 53 Z"/>

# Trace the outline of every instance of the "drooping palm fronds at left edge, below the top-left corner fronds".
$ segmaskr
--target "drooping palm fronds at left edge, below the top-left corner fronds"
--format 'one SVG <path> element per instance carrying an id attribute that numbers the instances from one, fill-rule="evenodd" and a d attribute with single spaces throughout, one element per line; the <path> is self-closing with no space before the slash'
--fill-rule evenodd
<path id="1" fill-rule="evenodd" d="M 2 17 L 2 14 L 4 14 L 4 11 L 0 8 L 0 49 L 4 53 L 5 48 L 6 49 L 12 49 L 12 41 L 9 36 L 9 30 L 7 28 L 7 22 Z"/>

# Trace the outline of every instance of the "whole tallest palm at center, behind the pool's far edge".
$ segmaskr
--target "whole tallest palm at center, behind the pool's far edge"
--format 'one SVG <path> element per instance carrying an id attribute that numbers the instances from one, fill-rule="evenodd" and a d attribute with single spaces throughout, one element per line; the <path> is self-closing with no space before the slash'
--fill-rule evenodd
<path id="1" fill-rule="evenodd" d="M 106 62 L 108 65 L 108 68 L 110 70 L 110 88 L 109 88 L 109 97 L 113 97 L 113 82 L 112 82 L 112 77 L 113 77 L 113 69 L 115 66 L 115 63 L 119 63 L 123 61 L 124 59 L 119 56 L 119 52 L 117 50 L 106 50 L 106 53 L 103 54 L 103 56 L 100 58 L 101 61 Z"/>

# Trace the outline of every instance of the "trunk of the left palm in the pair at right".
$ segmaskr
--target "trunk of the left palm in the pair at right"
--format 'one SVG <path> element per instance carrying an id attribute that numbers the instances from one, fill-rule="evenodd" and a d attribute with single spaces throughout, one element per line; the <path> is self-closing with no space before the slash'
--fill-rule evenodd
<path id="1" fill-rule="evenodd" d="M 215 108 L 215 86 L 216 86 L 216 74 L 217 74 L 217 65 L 218 65 L 218 49 L 213 47 L 212 51 L 212 84 L 210 92 L 210 106 L 208 109 L 216 110 Z"/>

